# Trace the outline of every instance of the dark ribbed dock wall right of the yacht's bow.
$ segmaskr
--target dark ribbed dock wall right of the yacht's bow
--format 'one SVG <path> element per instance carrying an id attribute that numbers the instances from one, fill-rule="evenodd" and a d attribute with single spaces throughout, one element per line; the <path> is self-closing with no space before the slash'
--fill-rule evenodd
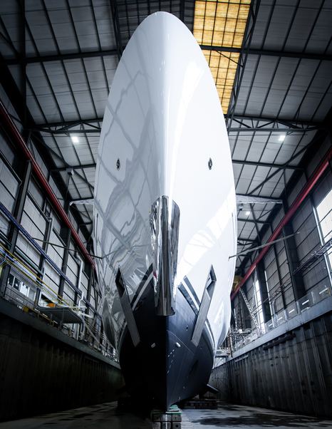
<path id="1" fill-rule="evenodd" d="M 331 362 L 329 313 L 214 368 L 210 383 L 229 402 L 331 418 Z"/>

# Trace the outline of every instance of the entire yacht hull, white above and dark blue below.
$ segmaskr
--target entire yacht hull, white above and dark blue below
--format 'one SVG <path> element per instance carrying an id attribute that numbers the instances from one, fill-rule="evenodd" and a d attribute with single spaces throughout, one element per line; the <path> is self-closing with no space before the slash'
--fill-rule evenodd
<path id="1" fill-rule="evenodd" d="M 162 408 L 196 395 L 229 328 L 236 201 L 214 81 L 170 14 L 147 17 L 118 65 L 94 207 L 103 324 L 128 390 Z"/>

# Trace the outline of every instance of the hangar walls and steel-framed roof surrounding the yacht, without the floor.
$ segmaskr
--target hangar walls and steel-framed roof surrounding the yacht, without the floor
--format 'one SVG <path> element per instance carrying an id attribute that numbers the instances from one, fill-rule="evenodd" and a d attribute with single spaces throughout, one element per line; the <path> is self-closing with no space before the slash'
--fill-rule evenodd
<path id="1" fill-rule="evenodd" d="M 155 11 L 201 46 L 232 152 L 237 266 L 211 383 L 230 402 L 331 418 L 331 1 L 4 0 L 0 419 L 105 402 L 123 386 L 90 200 L 118 61 Z"/>

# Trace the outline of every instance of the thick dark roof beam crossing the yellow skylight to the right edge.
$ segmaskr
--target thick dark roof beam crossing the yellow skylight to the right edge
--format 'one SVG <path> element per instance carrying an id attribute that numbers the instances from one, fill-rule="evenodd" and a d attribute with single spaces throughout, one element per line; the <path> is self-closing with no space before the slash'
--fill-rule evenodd
<path id="1" fill-rule="evenodd" d="M 230 46 L 209 46 L 199 45 L 205 51 L 218 51 L 218 52 L 229 52 L 229 53 L 242 53 L 242 48 L 232 48 Z M 311 52 L 291 52 L 291 51 L 274 51 L 271 49 L 255 49 L 255 48 L 244 48 L 246 53 L 249 55 L 257 56 L 277 56 L 285 58 L 299 58 L 316 61 L 332 61 L 332 55 L 326 55 L 321 53 Z"/>

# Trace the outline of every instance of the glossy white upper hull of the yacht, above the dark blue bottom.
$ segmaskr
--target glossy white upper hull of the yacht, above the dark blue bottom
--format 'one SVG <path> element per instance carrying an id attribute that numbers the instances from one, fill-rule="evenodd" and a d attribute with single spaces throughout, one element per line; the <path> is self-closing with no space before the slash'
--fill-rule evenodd
<path id="1" fill-rule="evenodd" d="M 180 207 L 177 283 L 187 276 L 201 299 L 213 264 L 208 319 L 217 345 L 229 327 L 229 256 L 237 250 L 232 161 L 207 62 L 187 27 L 165 12 L 148 16 L 125 48 L 100 136 L 94 239 L 98 256 L 108 255 L 97 264 L 115 346 L 123 324 L 115 272 L 120 266 L 133 296 L 153 261 L 150 207 L 161 195 Z"/>

